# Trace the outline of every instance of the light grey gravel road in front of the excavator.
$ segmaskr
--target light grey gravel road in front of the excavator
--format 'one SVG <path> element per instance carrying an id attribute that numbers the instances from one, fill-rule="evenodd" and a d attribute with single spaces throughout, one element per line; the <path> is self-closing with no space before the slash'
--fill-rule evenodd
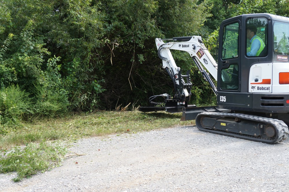
<path id="1" fill-rule="evenodd" d="M 0 174 L 0 191 L 289 191 L 289 140 L 269 145 L 185 126 L 81 139 L 70 150 L 86 155 L 18 183 Z"/>

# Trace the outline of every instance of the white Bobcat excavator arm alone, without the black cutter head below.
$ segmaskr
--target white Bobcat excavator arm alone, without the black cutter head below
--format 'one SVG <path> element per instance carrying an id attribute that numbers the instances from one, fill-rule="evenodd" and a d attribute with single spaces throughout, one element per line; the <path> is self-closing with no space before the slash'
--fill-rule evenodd
<path id="1" fill-rule="evenodd" d="M 170 42 L 164 43 L 164 41 Z M 181 69 L 177 67 L 170 49 L 188 52 L 204 79 L 209 82 L 212 90 L 216 94 L 217 88 L 210 74 L 214 79 L 217 79 L 217 63 L 202 43 L 200 36 L 174 37 L 170 39 L 156 38 L 155 44 L 158 49 L 158 56 L 162 59 L 163 68 L 168 72 L 168 75 L 174 83 L 176 97 L 183 97 L 185 101 L 188 101 L 190 99 L 191 83 L 188 82 L 188 79 L 187 83 L 185 83 L 184 77 L 189 76 L 189 72 L 187 72 L 186 75 L 180 74 Z M 200 62 L 209 73 L 203 68 Z"/>

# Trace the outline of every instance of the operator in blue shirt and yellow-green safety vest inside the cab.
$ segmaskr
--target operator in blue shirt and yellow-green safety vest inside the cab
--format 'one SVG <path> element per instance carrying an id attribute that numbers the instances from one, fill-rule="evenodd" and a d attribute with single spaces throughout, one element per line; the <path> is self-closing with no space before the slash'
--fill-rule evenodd
<path id="1" fill-rule="evenodd" d="M 253 25 L 247 27 L 247 39 L 250 40 L 251 46 L 247 56 L 259 56 L 265 47 L 263 40 L 257 36 L 257 28 Z"/>

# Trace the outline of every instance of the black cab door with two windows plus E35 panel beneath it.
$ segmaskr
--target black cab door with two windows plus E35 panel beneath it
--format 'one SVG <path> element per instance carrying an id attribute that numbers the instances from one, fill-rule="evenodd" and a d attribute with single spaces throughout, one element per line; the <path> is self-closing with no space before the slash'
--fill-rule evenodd
<path id="1" fill-rule="evenodd" d="M 241 17 L 222 23 L 219 33 L 217 104 L 231 110 L 250 110 L 252 105 L 247 92 L 240 93 Z"/>

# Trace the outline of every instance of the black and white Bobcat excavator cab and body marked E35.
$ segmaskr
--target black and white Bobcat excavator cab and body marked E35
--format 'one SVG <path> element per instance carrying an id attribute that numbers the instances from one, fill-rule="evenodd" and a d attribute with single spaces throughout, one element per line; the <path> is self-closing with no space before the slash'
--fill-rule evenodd
<path id="1" fill-rule="evenodd" d="M 259 44 L 253 44 L 255 39 Z M 219 107 L 287 116 L 289 18 L 245 14 L 227 19 L 220 26 L 218 50 Z"/>

